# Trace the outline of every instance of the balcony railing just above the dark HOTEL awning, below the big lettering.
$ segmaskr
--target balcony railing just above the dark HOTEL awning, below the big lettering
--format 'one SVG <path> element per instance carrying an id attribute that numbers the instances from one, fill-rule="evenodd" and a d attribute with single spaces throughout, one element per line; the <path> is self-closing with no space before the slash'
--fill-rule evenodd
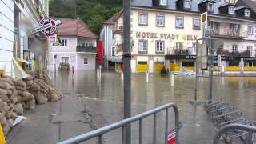
<path id="1" fill-rule="evenodd" d="M 195 55 L 195 49 L 193 47 L 169 47 L 167 48 L 167 54 L 169 55 Z"/>

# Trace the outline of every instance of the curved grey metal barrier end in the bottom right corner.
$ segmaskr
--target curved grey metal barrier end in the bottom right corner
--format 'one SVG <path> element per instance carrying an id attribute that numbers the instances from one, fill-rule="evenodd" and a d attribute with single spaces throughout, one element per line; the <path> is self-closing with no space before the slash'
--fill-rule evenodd
<path id="1" fill-rule="evenodd" d="M 256 139 L 252 138 L 252 134 L 256 133 L 256 126 L 248 126 L 248 125 L 242 125 L 242 124 L 234 123 L 234 124 L 222 126 L 218 130 L 218 133 L 214 137 L 214 144 L 218 144 L 219 143 L 219 139 L 221 138 L 222 134 L 225 134 L 229 130 L 234 130 L 234 129 L 245 130 L 245 131 L 248 132 L 248 137 L 246 138 L 247 139 L 246 143 L 254 144 L 256 142 Z"/>

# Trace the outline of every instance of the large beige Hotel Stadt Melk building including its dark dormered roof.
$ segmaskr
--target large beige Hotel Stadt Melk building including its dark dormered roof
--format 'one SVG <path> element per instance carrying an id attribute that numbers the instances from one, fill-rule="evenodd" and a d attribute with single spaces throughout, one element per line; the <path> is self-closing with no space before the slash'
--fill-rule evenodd
<path id="1" fill-rule="evenodd" d="M 256 19 L 249 7 L 213 0 L 134 0 L 131 5 L 133 73 L 159 72 L 163 66 L 194 70 L 195 41 L 202 38 L 200 15 L 206 11 L 206 36 L 223 42 L 215 53 L 216 58 L 222 55 L 222 65 L 238 66 L 243 58 L 245 66 L 256 66 Z M 122 15 L 114 34 L 117 53 L 122 53 Z"/>

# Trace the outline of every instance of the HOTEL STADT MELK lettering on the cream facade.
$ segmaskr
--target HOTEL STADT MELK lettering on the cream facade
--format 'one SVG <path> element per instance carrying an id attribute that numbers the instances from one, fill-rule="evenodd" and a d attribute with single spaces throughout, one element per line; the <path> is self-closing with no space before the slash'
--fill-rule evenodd
<path id="1" fill-rule="evenodd" d="M 197 35 L 190 34 L 165 34 L 165 33 L 150 33 L 150 32 L 136 32 L 136 38 L 152 38 L 152 39 L 170 39 L 170 40 L 186 40 L 195 41 L 197 40 Z"/>

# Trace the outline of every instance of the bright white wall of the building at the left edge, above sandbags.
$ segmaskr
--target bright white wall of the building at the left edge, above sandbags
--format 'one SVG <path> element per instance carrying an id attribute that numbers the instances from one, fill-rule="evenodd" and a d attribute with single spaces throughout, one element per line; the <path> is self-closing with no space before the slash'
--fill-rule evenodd
<path id="1" fill-rule="evenodd" d="M 11 59 L 14 44 L 14 2 L 0 0 L 0 66 L 11 73 Z"/>

